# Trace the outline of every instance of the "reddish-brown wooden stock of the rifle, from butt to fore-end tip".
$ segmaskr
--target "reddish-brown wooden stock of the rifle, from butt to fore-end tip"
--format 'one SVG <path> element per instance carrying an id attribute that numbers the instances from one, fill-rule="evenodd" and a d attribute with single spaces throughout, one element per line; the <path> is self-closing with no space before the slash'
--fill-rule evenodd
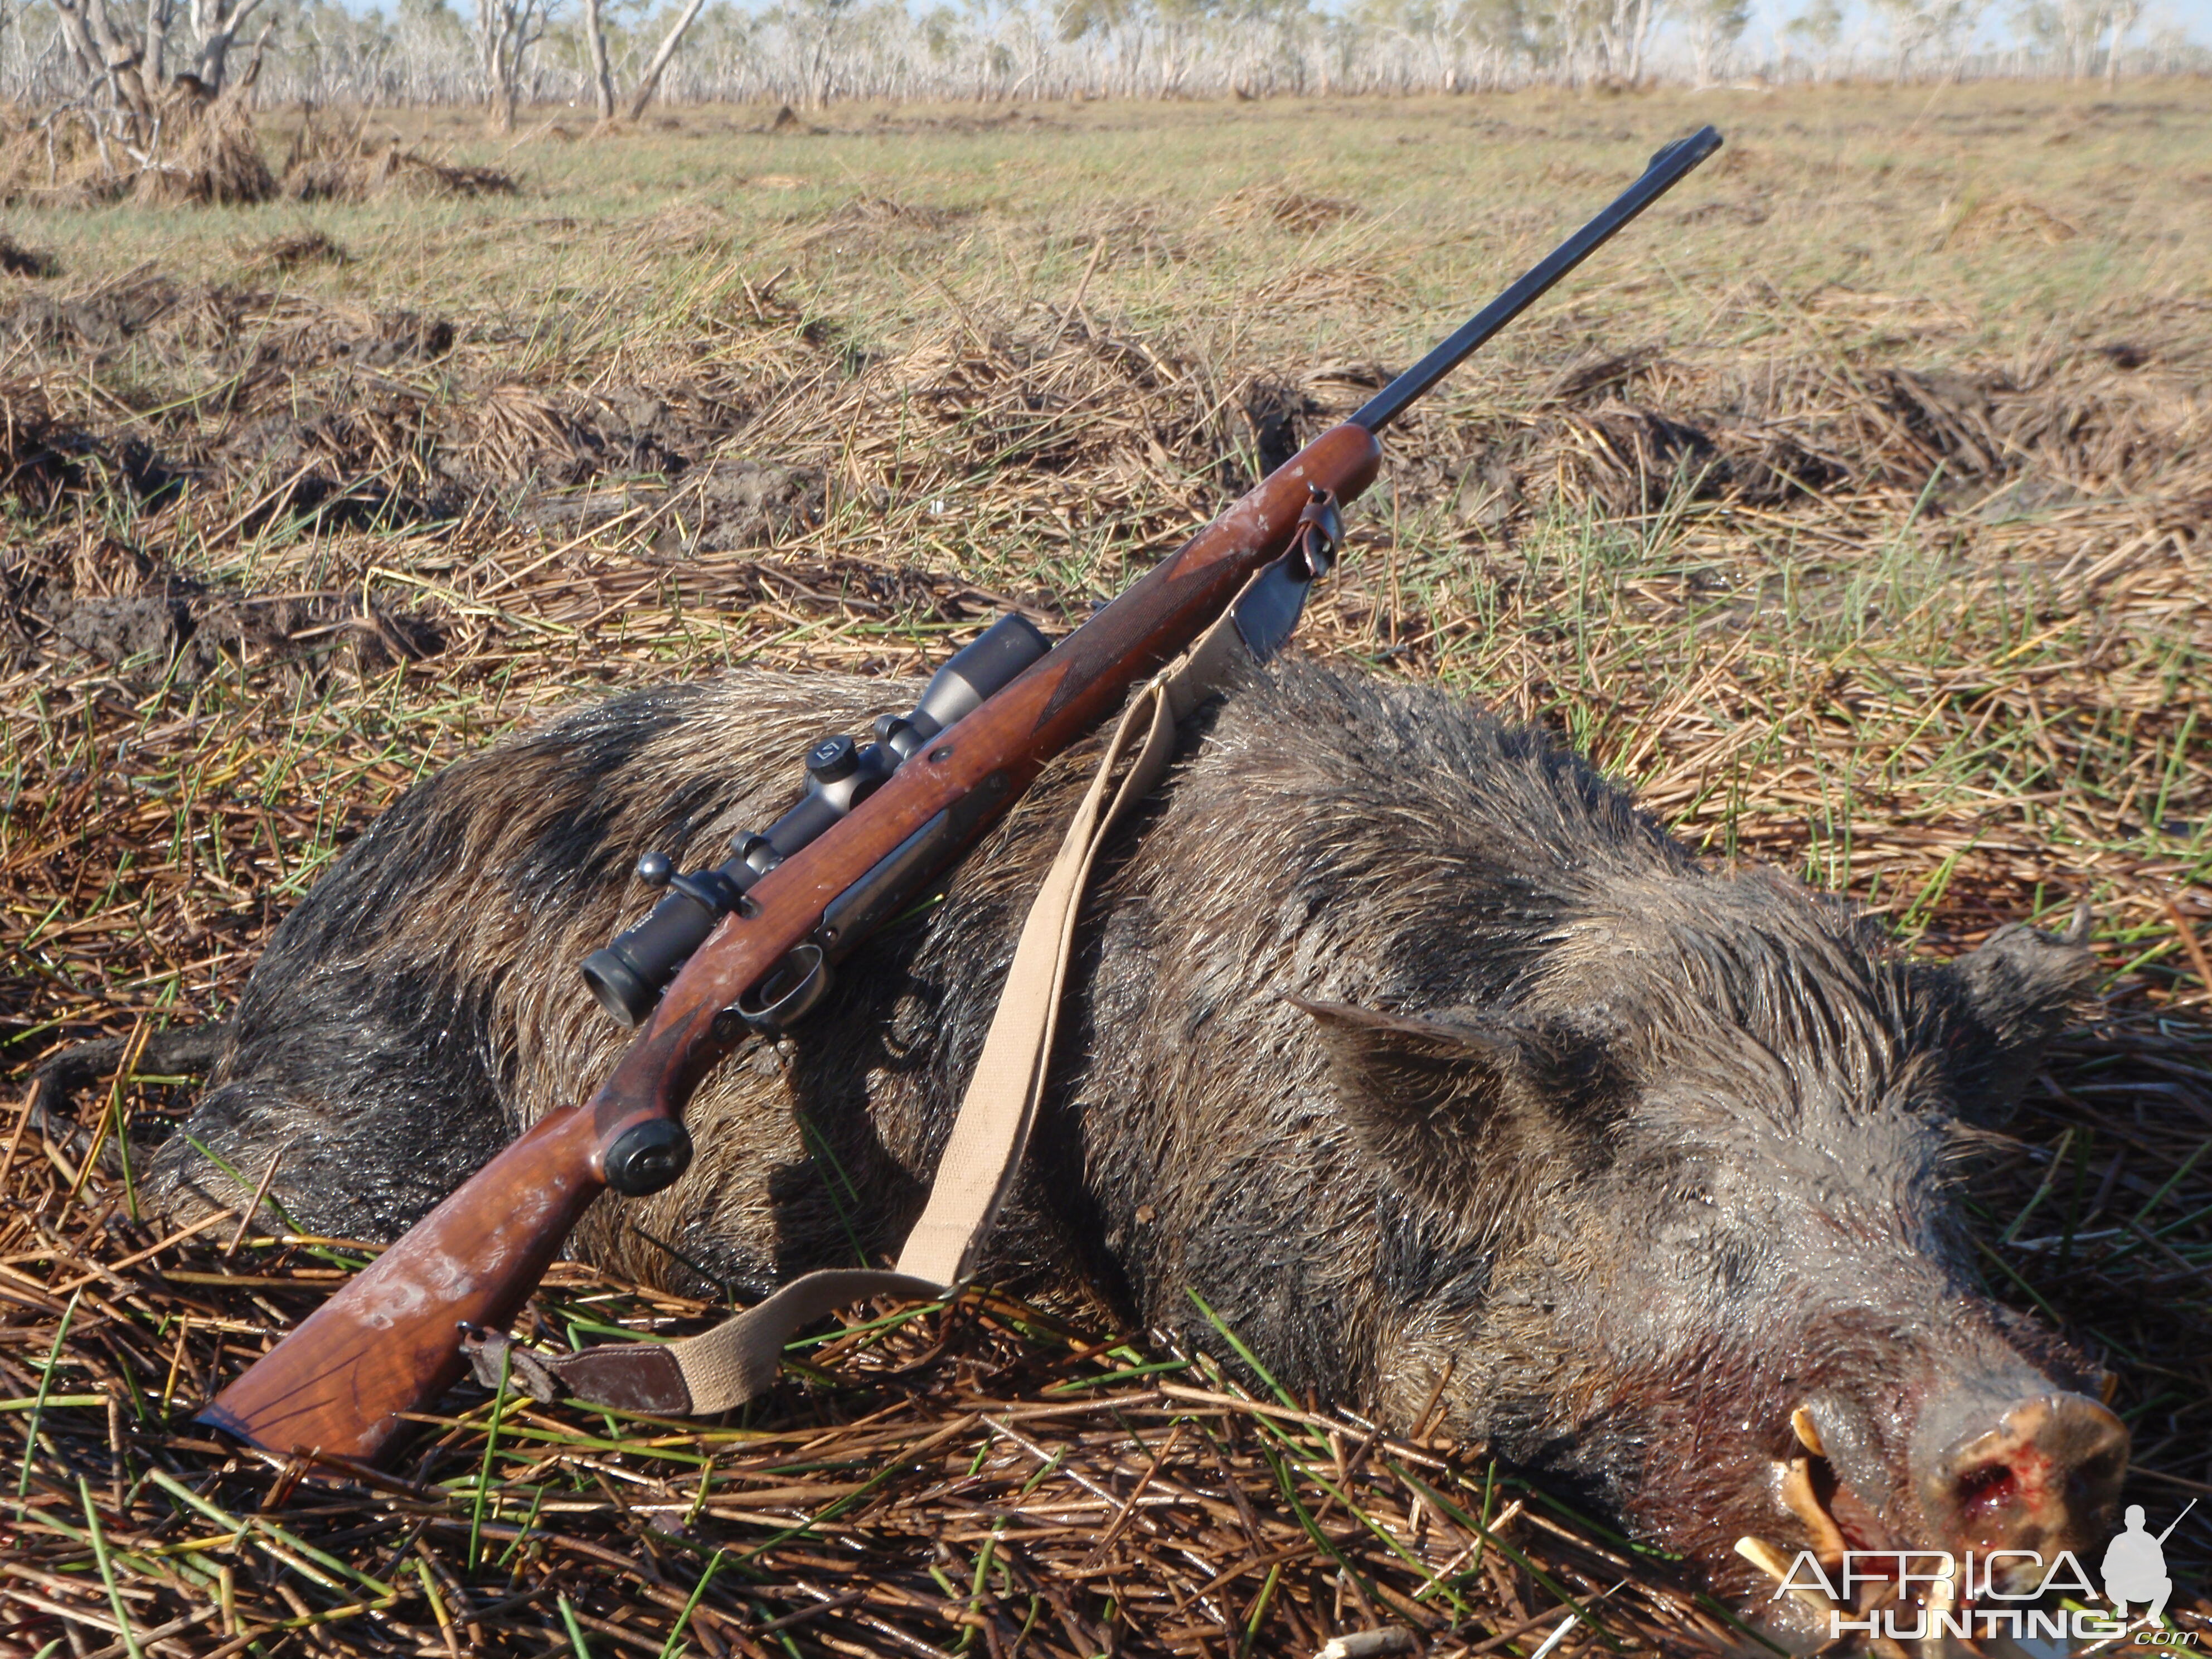
<path id="1" fill-rule="evenodd" d="M 584 1106 L 538 1121 L 223 1389 L 199 1420 L 268 1451 L 374 1460 L 465 1367 L 467 1325 L 504 1327 L 606 1188 L 608 1150 L 639 1124 L 681 1115 L 737 1040 L 714 1015 L 799 945 L 843 953 L 823 914 L 938 814 L 960 834 L 938 867 L 998 818 L 1060 750 L 1183 650 L 1237 591 L 1290 546 L 1312 491 L 1349 502 L 1383 451 L 1345 422 L 1130 584 L 1011 686 L 942 732 L 867 805 L 763 876 L 692 953 L 615 1073 Z M 586 1015 L 580 989 L 580 1018 Z"/>

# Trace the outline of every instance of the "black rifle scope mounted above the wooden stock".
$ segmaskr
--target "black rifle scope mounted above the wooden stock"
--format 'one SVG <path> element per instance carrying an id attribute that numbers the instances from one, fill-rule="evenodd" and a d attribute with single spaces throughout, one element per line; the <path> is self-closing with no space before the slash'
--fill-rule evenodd
<path id="1" fill-rule="evenodd" d="M 668 898 L 613 945 L 584 958 L 584 984 L 599 998 L 599 1006 L 617 1024 L 641 1022 L 677 969 L 706 945 L 714 922 L 743 909 L 752 883 L 860 805 L 929 739 L 964 719 L 1051 648 L 1053 641 L 1024 617 L 1000 617 L 938 668 L 911 714 L 878 719 L 874 743 L 825 737 L 810 748 L 807 792 L 799 796 L 799 805 L 761 834 L 741 830 L 730 836 L 732 858 L 681 876 L 664 852 L 639 858 L 637 878 L 648 887 L 666 887 Z"/>

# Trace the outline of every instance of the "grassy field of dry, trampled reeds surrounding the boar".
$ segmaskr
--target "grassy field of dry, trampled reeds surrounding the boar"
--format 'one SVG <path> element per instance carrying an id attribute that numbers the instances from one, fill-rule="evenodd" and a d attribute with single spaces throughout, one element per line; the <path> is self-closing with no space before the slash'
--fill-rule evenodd
<path id="1" fill-rule="evenodd" d="M 299 1489 L 184 1411 L 358 1254 L 166 1241 L 131 1164 L 192 1079 L 126 1075 L 502 732 L 1082 619 L 1703 119 L 1391 436 L 1305 648 L 1913 949 L 2090 905 L 1978 1250 L 2115 1369 L 2154 1526 L 2212 1495 L 2203 84 L 303 119 L 272 168 L 414 170 L 0 221 L 0 1055 L 124 1040 L 75 1130 L 0 1119 L 0 1650 L 1741 1641 L 1480 1447 L 989 1294 L 858 1316 L 728 1427 L 462 1391 L 394 1480 Z M 699 1312 L 564 1267 L 533 1318 Z"/>

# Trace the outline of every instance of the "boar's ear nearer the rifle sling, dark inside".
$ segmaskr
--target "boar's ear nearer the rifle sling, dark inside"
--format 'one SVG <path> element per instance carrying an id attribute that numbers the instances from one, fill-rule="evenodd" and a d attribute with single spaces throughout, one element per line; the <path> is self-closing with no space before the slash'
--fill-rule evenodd
<path id="1" fill-rule="evenodd" d="M 1475 1192 L 1491 1106 L 1522 1064 L 1513 1033 L 1287 995 L 1321 1026 L 1345 1121 L 1400 1183 L 1442 1208 Z"/>

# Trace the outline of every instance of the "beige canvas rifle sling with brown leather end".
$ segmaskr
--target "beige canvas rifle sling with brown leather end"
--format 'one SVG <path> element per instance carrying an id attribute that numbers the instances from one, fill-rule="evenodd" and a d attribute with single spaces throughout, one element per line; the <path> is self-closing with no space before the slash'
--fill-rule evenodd
<path id="1" fill-rule="evenodd" d="M 975 1272 L 991 1221 L 1022 1168 L 1051 1066 L 1060 995 L 1091 865 L 1115 827 L 1166 776 L 1181 721 L 1239 664 L 1250 661 L 1234 619 L 1223 615 L 1124 710 L 1022 922 L 1013 967 L 938 1161 L 929 1206 L 900 1250 L 896 1270 L 812 1272 L 714 1329 L 675 1343 L 613 1343 L 546 1356 L 511 1343 L 504 1332 L 478 1329 L 465 1345 L 478 1380 L 498 1387 L 504 1374 L 509 1387 L 540 1400 L 568 1396 L 626 1411 L 706 1416 L 765 1394 L 781 1369 L 783 1345 L 803 1325 L 845 1303 L 869 1296 L 936 1301 L 956 1294 Z M 1124 759 L 1128 770 L 1115 787 L 1113 776 Z"/>

